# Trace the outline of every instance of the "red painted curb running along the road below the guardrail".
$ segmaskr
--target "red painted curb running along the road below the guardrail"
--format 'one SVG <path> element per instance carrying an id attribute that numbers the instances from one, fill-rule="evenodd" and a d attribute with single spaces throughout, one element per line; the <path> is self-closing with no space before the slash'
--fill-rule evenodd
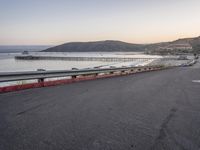
<path id="1" fill-rule="evenodd" d="M 95 80 L 95 79 L 101 79 L 101 78 L 125 76 L 125 75 L 130 75 L 130 74 L 135 74 L 135 73 L 150 72 L 150 71 L 156 71 L 156 70 L 161 70 L 161 69 L 162 68 L 156 68 L 152 70 L 125 72 L 125 73 L 118 73 L 118 74 L 117 73 L 104 74 L 104 75 L 98 75 L 98 76 L 90 75 L 90 76 L 81 76 L 81 77 L 77 77 L 73 79 L 62 79 L 62 80 L 55 80 L 55 81 L 45 81 L 45 82 L 40 82 L 40 83 L 29 83 L 29 84 L 23 84 L 23 85 L 6 86 L 6 87 L 0 87 L 0 93 L 14 92 L 14 91 L 31 89 L 31 88 L 56 86 L 56 85 L 62 85 L 62 84 L 70 84 L 70 83 L 79 82 L 79 81 Z"/>

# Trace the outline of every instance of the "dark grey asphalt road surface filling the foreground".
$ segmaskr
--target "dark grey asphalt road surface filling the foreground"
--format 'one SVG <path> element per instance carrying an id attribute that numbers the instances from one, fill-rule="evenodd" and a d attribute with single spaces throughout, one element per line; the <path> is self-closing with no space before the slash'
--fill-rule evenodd
<path id="1" fill-rule="evenodd" d="M 0 94 L 0 150 L 199 150 L 200 65 Z"/>

